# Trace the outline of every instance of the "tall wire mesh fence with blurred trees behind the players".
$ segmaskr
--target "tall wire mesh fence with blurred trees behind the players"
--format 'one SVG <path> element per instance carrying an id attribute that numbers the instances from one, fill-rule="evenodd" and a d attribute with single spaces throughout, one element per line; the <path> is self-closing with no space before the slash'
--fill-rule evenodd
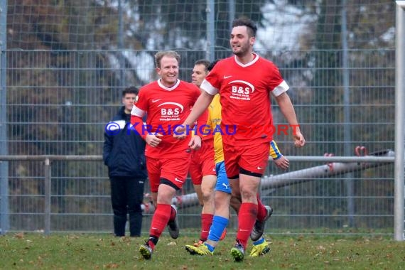
<path id="1" fill-rule="evenodd" d="M 286 156 L 394 149 L 394 1 L 208 4 L 0 1 L 0 155 L 101 155 L 104 126 L 119 107 L 121 90 L 156 79 L 154 53 L 177 50 L 180 79 L 190 80 L 195 60 L 230 55 L 229 23 L 239 16 L 258 22 L 255 50 L 274 61 L 291 86 L 307 145 L 293 148 L 290 136 L 275 134 Z M 286 124 L 276 106 L 273 113 L 276 124 Z M 306 171 L 296 183 L 261 190 L 264 203 L 274 207 L 267 229 L 392 235 L 393 163 L 353 171 L 325 163 L 293 161 L 288 172 L 326 166 L 325 173 Z M 50 232 L 112 231 L 101 161 L 51 159 L 44 165 L 0 162 L 2 232 L 43 232 L 47 220 Z M 281 173 L 269 163 L 267 175 Z M 187 183 L 179 195 L 192 192 Z M 200 226 L 200 207 L 180 207 L 179 214 L 181 227 Z M 144 220 L 147 232 L 150 215 Z"/>

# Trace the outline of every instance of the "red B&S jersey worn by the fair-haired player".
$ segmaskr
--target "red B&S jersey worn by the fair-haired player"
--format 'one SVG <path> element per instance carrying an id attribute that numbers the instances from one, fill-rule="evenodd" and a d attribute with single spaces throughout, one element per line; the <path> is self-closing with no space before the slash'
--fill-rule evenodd
<path id="1" fill-rule="evenodd" d="M 146 114 L 144 135 L 148 132 L 163 135 L 159 137 L 162 141 L 158 146 L 146 145 L 146 156 L 170 157 L 179 151 L 188 151 L 191 131 L 186 131 L 188 137 L 183 140 L 173 138 L 173 131 L 176 126 L 183 124 L 199 96 L 198 87 L 181 80 L 170 88 L 162 85 L 160 80 L 141 87 L 131 114 L 136 117 Z"/>

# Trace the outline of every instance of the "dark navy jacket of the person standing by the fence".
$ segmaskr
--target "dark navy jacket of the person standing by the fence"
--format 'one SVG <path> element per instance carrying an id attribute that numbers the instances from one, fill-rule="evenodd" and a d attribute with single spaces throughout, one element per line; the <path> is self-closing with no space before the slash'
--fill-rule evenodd
<path id="1" fill-rule="evenodd" d="M 146 179 L 145 141 L 134 131 L 128 131 L 131 114 L 126 114 L 124 109 L 124 106 L 121 107 L 117 115 L 106 126 L 103 148 L 104 164 L 108 166 L 110 178 L 130 176 Z"/>

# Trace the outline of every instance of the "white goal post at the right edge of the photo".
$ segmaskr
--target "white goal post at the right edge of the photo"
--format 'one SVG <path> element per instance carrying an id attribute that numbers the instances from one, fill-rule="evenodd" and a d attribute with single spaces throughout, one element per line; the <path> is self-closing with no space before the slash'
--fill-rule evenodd
<path id="1" fill-rule="evenodd" d="M 404 241 L 405 1 L 396 1 L 394 239 Z"/>

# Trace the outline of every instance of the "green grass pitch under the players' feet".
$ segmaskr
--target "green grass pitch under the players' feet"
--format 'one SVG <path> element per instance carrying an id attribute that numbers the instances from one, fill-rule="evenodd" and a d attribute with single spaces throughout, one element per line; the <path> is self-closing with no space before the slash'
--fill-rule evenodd
<path id="1" fill-rule="evenodd" d="M 146 237 L 146 235 L 145 235 Z M 163 234 L 149 261 L 139 254 L 144 238 L 111 234 L 9 233 L 0 237 L 1 269 L 405 269 L 405 242 L 390 237 L 269 238 L 271 252 L 234 262 L 229 255 L 234 237 L 228 235 L 210 257 L 191 256 L 185 244 Z M 250 244 L 250 243 L 249 243 Z M 251 246 L 248 247 L 249 252 Z"/>

